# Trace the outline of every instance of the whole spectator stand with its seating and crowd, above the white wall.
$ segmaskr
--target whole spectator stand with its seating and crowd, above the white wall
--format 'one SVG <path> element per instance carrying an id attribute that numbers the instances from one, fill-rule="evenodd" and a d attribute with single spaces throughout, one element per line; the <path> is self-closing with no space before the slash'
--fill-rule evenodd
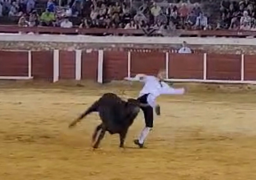
<path id="1" fill-rule="evenodd" d="M 59 0 L 58 2 L 52 0 L 0 0 L 0 24 L 16 24 L 19 27 L 73 27 L 80 28 L 74 32 L 78 33 L 79 31 L 81 34 L 87 34 L 90 32 L 88 30 L 90 28 L 97 28 L 137 29 L 137 31 L 126 31 L 134 32 L 128 33 L 133 35 L 204 36 L 213 29 L 255 31 L 255 6 L 256 3 L 251 0 L 134 0 L 122 2 L 115 0 Z M 0 29 L 3 32 L 7 27 L 1 26 Z M 59 28 L 53 29 L 55 30 L 52 31 L 61 33 Z M 184 33 L 184 30 L 189 30 L 189 32 Z M 208 31 L 208 33 L 198 33 L 198 30 Z M 41 31 L 45 30 L 37 32 Z M 63 31 L 68 32 L 67 30 Z M 70 29 L 69 32 L 72 34 L 72 31 Z M 109 30 L 104 31 L 105 33 L 102 35 L 109 34 Z M 119 33 L 120 30 L 116 31 L 117 33 L 112 33 L 114 30 L 110 31 L 110 34 L 126 34 Z M 230 34 L 226 31 L 219 32 L 216 33 L 216 36 L 239 35 L 234 31 Z M 102 32 L 102 30 L 96 32 Z M 244 32 L 240 35 L 248 33 Z"/>

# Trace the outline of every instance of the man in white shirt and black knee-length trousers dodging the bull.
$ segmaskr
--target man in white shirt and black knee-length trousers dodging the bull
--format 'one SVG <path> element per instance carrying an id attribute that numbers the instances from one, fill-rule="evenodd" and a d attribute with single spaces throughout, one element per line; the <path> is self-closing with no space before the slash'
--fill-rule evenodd
<path id="1" fill-rule="evenodd" d="M 135 145 L 143 147 L 144 141 L 153 127 L 153 111 L 160 116 L 160 106 L 156 104 L 156 98 L 161 94 L 184 94 L 184 88 L 172 88 L 167 83 L 163 82 L 166 77 L 165 70 L 160 70 L 157 77 L 145 74 L 137 74 L 134 78 L 124 78 L 128 81 L 141 81 L 144 83 L 143 89 L 139 93 L 138 100 L 140 103 L 147 104 L 141 107 L 145 118 L 145 127 L 137 140 L 134 140 Z"/>

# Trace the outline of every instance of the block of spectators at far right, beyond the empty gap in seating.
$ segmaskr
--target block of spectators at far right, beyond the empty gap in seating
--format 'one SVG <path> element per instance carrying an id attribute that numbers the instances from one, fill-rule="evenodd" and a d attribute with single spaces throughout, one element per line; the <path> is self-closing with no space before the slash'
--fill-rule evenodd
<path id="1" fill-rule="evenodd" d="M 217 29 L 252 30 L 256 31 L 255 0 L 222 0 L 221 21 Z"/>

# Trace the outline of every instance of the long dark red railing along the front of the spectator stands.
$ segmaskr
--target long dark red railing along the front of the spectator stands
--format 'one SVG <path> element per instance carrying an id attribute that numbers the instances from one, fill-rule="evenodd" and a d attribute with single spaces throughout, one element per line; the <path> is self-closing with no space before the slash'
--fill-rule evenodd
<path id="1" fill-rule="evenodd" d="M 46 33 L 46 34 L 80 34 L 80 35 L 145 35 L 141 29 L 101 29 L 101 28 L 59 28 L 59 27 L 19 27 L 16 25 L 0 25 L 0 33 Z M 155 33 L 157 34 L 157 33 Z M 233 30 L 176 30 L 175 34 L 186 37 L 256 37 L 256 31 Z"/>

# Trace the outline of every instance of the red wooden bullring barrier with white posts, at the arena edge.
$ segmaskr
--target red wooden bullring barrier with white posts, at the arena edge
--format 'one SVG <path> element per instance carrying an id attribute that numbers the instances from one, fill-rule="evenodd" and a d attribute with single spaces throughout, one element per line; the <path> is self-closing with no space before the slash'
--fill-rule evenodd
<path id="1" fill-rule="evenodd" d="M 256 83 L 256 55 L 161 51 L 0 50 L 0 79 L 90 79 L 98 83 L 156 75 L 167 71 L 167 81 Z"/>

